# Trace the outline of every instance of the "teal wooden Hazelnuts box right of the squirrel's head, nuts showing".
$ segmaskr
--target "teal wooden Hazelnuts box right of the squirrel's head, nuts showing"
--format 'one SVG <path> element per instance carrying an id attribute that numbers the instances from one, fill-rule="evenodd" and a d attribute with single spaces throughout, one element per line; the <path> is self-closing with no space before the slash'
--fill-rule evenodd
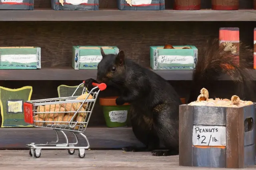
<path id="1" fill-rule="evenodd" d="M 158 69 L 194 69 L 196 67 L 198 49 L 194 45 L 173 46 L 174 49 L 164 49 L 164 46 L 150 47 L 150 67 Z M 187 47 L 189 49 L 182 49 Z"/>

